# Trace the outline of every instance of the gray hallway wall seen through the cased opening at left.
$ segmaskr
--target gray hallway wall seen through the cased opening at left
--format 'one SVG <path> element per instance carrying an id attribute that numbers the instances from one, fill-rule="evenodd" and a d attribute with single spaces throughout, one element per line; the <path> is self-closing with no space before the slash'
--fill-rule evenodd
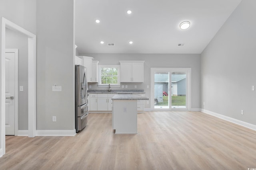
<path id="1" fill-rule="evenodd" d="M 6 49 L 19 50 L 19 92 L 18 130 L 28 130 L 28 37 L 17 31 L 6 29 Z"/>

